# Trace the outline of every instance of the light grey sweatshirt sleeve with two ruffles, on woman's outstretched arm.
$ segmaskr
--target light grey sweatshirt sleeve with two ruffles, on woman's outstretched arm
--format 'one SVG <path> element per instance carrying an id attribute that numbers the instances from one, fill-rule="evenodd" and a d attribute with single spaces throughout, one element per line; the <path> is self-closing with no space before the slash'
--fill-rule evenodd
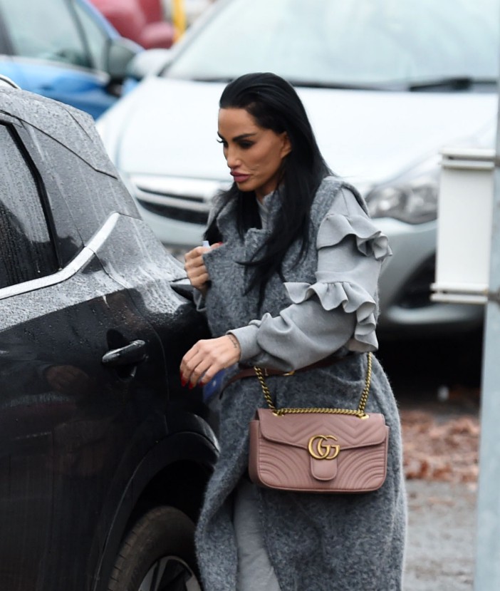
<path id="1" fill-rule="evenodd" d="M 346 192 L 319 228 L 316 282 L 286 283 L 290 306 L 230 331 L 242 362 L 291 371 L 341 349 L 377 349 L 377 281 L 390 247 Z"/>

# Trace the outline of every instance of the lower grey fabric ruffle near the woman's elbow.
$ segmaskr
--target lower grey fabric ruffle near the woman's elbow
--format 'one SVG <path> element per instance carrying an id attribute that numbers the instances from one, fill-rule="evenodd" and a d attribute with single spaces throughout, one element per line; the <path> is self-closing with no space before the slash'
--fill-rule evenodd
<path id="1" fill-rule="evenodd" d="M 294 304 L 317 297 L 325 310 L 342 307 L 346 314 L 356 315 L 353 339 L 348 343 L 352 351 L 377 349 L 375 314 L 377 304 L 370 294 L 357 284 L 349 282 L 323 283 L 285 283 L 286 290 Z"/>

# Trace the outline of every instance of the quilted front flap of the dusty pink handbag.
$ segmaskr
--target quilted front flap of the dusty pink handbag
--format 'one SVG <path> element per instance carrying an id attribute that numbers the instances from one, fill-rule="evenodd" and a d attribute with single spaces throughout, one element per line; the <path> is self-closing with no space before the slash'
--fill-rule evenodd
<path id="1" fill-rule="evenodd" d="M 306 449 L 316 436 L 335 442 L 340 450 L 374 446 L 387 437 L 385 419 L 380 413 L 369 413 L 368 418 L 328 413 L 276 416 L 269 408 L 259 408 L 256 418 L 265 439 Z"/>

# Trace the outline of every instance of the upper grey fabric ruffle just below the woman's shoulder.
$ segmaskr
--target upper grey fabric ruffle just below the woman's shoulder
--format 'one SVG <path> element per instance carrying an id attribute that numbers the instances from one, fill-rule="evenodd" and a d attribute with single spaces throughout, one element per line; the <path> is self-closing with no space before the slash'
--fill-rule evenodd
<path id="1" fill-rule="evenodd" d="M 359 252 L 365 257 L 373 256 L 382 261 L 392 255 L 389 240 L 363 215 L 327 215 L 318 230 L 316 246 L 319 248 L 338 245 L 347 236 L 354 236 Z"/>

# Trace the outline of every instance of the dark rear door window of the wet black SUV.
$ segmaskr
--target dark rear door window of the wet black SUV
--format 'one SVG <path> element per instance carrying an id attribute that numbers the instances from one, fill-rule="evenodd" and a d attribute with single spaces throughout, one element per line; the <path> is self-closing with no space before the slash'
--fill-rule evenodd
<path id="1" fill-rule="evenodd" d="M 38 185 L 20 144 L 0 124 L 0 288 L 57 270 Z"/>

